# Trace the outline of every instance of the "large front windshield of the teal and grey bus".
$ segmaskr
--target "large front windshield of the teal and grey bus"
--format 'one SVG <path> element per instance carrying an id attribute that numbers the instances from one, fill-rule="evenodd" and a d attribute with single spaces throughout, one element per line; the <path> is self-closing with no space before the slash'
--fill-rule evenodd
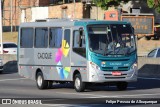
<path id="1" fill-rule="evenodd" d="M 89 49 L 102 55 L 129 55 L 136 50 L 129 24 L 88 26 Z"/>

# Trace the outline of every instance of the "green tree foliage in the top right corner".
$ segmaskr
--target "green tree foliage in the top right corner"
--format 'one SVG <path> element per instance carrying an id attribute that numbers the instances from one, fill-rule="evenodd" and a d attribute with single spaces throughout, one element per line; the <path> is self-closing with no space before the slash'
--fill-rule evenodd
<path id="1" fill-rule="evenodd" d="M 160 13 L 160 0 L 147 0 L 147 4 L 149 8 L 153 8 Z"/>

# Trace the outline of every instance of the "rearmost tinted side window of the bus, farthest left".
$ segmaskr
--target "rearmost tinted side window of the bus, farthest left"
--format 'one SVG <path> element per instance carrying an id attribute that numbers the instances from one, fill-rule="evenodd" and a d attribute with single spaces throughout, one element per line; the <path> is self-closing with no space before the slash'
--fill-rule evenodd
<path id="1" fill-rule="evenodd" d="M 33 28 L 22 28 L 21 29 L 21 48 L 32 48 L 33 47 Z"/>

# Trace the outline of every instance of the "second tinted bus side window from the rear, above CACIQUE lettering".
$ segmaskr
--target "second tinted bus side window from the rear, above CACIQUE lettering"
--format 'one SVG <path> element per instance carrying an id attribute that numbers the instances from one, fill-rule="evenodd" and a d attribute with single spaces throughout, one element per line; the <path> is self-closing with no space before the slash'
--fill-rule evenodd
<path id="1" fill-rule="evenodd" d="M 35 47 L 45 48 L 48 46 L 48 28 L 36 28 Z"/>

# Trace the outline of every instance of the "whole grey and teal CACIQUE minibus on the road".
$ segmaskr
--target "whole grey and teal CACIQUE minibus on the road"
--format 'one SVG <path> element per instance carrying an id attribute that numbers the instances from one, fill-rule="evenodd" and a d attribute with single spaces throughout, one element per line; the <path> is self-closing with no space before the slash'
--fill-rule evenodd
<path id="1" fill-rule="evenodd" d="M 92 83 L 113 83 L 125 90 L 128 82 L 137 81 L 137 49 L 130 23 L 24 23 L 18 41 L 19 74 L 36 80 L 39 89 L 70 82 L 77 92 Z"/>

